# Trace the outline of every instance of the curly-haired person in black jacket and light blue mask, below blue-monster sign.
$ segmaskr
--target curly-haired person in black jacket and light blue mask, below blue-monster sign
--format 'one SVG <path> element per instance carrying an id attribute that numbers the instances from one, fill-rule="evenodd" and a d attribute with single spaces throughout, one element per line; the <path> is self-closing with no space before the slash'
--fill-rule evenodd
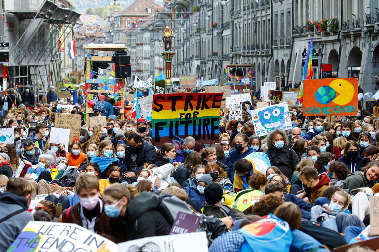
<path id="1" fill-rule="evenodd" d="M 271 165 L 278 167 L 283 174 L 291 180 L 292 173 L 299 163 L 296 152 L 288 146 L 288 139 L 283 130 L 272 130 L 267 136 L 267 147 L 265 153 L 271 161 Z"/>

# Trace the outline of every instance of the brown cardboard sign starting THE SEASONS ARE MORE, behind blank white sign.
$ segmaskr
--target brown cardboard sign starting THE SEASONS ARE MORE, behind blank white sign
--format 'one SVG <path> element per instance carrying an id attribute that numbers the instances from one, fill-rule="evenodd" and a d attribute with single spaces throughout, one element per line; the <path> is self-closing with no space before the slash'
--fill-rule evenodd
<path id="1" fill-rule="evenodd" d="M 80 140 L 81 115 L 55 113 L 54 126 L 70 129 L 70 143 Z"/>

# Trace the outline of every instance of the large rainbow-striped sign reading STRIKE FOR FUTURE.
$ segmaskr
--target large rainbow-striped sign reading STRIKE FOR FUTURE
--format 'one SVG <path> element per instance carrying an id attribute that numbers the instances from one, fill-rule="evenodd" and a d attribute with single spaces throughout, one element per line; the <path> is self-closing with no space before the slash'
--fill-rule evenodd
<path id="1" fill-rule="evenodd" d="M 193 136 L 196 142 L 218 141 L 222 93 L 173 93 L 154 95 L 152 139 L 155 145 L 173 136 Z"/>

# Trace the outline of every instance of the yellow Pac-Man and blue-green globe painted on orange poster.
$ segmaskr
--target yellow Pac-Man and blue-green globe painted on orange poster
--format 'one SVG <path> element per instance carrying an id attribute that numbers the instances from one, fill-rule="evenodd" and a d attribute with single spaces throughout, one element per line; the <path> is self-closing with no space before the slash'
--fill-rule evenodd
<path id="1" fill-rule="evenodd" d="M 354 86 L 344 79 L 336 79 L 328 86 L 319 87 L 314 97 L 321 104 L 329 104 L 331 102 L 337 105 L 345 105 L 351 102 L 354 97 Z"/>

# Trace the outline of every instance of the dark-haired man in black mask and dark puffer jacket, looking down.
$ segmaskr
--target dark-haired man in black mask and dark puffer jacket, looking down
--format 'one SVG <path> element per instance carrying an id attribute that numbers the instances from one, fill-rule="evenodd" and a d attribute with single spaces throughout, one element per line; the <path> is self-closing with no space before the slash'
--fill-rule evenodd
<path id="1" fill-rule="evenodd" d="M 126 178 L 135 177 L 145 163 L 153 163 L 156 154 L 155 147 L 136 133 L 128 136 L 128 151 L 130 158 L 126 160 L 126 166 L 130 171 L 124 174 Z"/>

